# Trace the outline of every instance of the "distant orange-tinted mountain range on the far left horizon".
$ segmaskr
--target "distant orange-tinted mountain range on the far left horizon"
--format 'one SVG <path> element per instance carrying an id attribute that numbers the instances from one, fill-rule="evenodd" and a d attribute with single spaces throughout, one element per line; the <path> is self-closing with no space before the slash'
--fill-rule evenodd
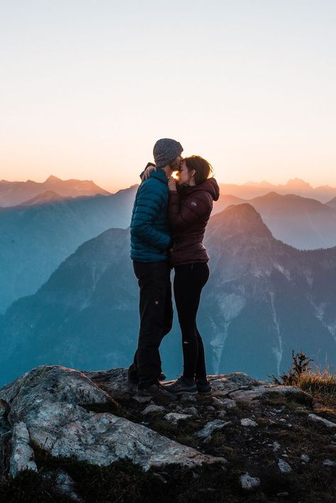
<path id="1" fill-rule="evenodd" d="M 111 194 L 101 189 L 91 180 L 62 180 L 50 175 L 45 182 L 8 182 L 0 180 L 0 206 L 16 206 L 34 197 L 40 197 L 45 192 L 54 192 L 60 197 L 95 196 L 96 194 Z"/>

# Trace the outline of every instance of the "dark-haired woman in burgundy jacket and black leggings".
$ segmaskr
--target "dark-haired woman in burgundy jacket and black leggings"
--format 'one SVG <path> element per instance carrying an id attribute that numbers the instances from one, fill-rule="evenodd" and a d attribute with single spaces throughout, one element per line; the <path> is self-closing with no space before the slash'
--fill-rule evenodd
<path id="1" fill-rule="evenodd" d="M 197 155 L 181 161 L 177 182 L 169 178 L 169 221 L 174 246 L 172 266 L 175 270 L 174 297 L 182 333 L 183 375 L 167 391 L 174 394 L 211 393 L 206 378 L 206 363 L 196 315 L 201 292 L 208 281 L 208 253 L 203 245 L 206 224 L 219 197 L 214 178 L 208 178 L 211 165 Z"/>

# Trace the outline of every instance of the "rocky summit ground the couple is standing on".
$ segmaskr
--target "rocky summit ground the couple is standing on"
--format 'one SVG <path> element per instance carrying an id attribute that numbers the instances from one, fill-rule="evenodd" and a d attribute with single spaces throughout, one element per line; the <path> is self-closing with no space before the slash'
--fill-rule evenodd
<path id="1" fill-rule="evenodd" d="M 101 468 L 130 460 L 144 470 L 143 477 L 152 474 L 162 487 L 169 467 L 191 470 L 192 480 L 198 480 L 197 470 L 211 465 L 211 485 L 204 488 L 208 476 L 201 477 L 203 488 L 195 482 L 197 490 L 220 494 L 222 499 L 213 501 L 231 494 L 233 499 L 225 501 L 237 502 L 246 501 L 246 492 L 257 492 L 260 499 L 255 501 L 278 501 L 285 492 L 292 497 L 302 490 L 300 483 L 307 491 L 318 469 L 325 477 L 324 489 L 319 489 L 323 501 L 332 501 L 332 482 L 325 490 L 326 480 L 335 481 L 331 411 L 327 415 L 314 409 L 312 398 L 301 389 L 257 381 L 242 372 L 208 379 L 209 395 L 155 403 L 138 396 L 123 368 L 84 372 L 58 365 L 36 367 L 0 390 L 2 475 L 17 477 L 28 469 L 38 476 L 44 469 L 41 456 L 50 456 L 61 460 L 53 479 L 56 489 L 81 500 L 80 480 L 72 479 L 78 472 L 68 470 L 70 460 Z M 43 475 L 45 480 L 53 466 Z"/>

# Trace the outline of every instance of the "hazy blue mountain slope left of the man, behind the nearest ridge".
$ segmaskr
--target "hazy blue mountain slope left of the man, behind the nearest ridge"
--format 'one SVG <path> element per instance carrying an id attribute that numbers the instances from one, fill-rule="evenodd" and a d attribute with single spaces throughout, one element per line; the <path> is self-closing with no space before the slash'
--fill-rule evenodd
<path id="1" fill-rule="evenodd" d="M 0 209 L 0 313 L 33 294 L 79 245 L 111 227 L 125 228 L 135 187 L 107 196 L 64 197 Z"/>

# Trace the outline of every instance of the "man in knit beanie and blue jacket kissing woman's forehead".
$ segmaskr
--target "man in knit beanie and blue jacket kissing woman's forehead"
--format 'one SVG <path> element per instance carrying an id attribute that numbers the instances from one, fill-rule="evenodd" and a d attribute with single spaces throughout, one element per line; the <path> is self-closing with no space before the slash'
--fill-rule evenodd
<path id="1" fill-rule="evenodd" d="M 176 140 L 162 138 L 155 143 L 153 155 L 157 170 L 140 184 L 130 223 L 130 258 L 140 287 L 140 331 L 128 379 L 138 382 L 139 394 L 171 399 L 177 397 L 159 383 L 162 372 L 159 345 L 172 328 L 168 179 L 179 169 L 182 152 Z"/>

